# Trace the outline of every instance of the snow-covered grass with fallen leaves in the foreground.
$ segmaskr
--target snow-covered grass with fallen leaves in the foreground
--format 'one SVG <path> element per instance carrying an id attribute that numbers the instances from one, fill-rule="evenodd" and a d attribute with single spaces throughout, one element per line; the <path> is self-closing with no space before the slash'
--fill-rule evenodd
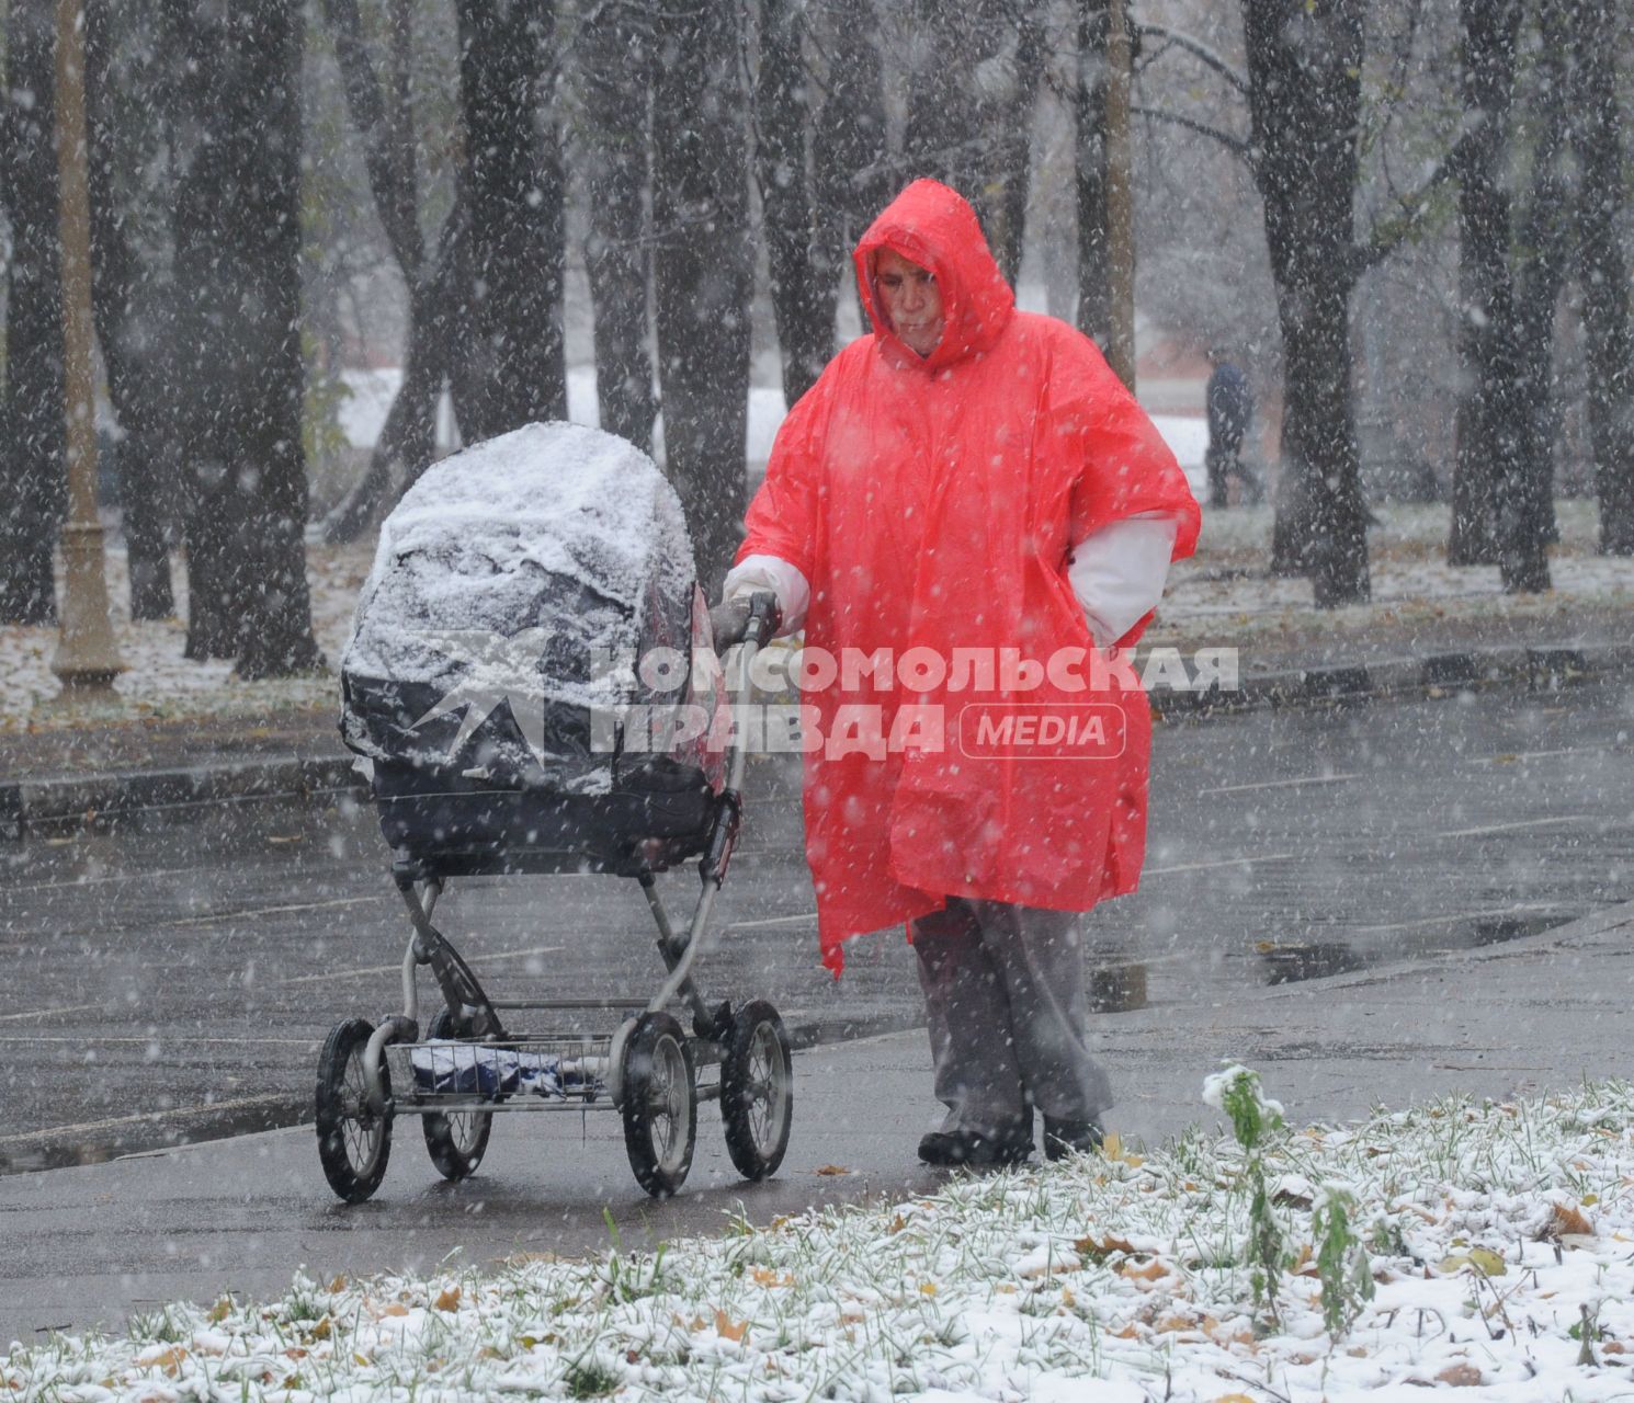
<path id="1" fill-rule="evenodd" d="M 954 1176 L 900 1204 L 149 1312 L 0 1357 L 18 1403 L 1492 1400 L 1634 1393 L 1634 1086 Z M 1348 1202 L 1350 1227 L 1314 1209 Z M 1332 1223 L 1332 1215 L 1328 1218 Z M 1327 1300 L 1324 1300 L 1327 1294 Z M 1324 1313 L 1327 1305 L 1327 1315 Z M 1098 1382 L 1092 1382 L 1098 1380 Z"/>

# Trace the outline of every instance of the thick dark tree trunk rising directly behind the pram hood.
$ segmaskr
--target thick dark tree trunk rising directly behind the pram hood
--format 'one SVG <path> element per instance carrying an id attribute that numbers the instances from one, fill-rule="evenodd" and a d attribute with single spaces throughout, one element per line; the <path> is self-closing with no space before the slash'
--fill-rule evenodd
<path id="1" fill-rule="evenodd" d="M 551 7 L 459 0 L 458 15 L 471 305 L 456 408 L 475 441 L 567 418 L 565 232 Z"/>

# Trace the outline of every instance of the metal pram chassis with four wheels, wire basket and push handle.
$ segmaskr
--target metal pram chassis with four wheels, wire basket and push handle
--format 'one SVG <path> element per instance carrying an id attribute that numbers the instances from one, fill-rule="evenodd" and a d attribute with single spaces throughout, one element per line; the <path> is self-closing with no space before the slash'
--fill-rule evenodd
<path id="1" fill-rule="evenodd" d="M 730 609 L 730 606 L 725 606 Z M 770 593 L 757 593 L 748 601 L 747 616 L 742 609 L 735 611 L 735 617 L 730 619 L 729 627 L 740 627 L 739 639 L 721 639 L 717 632 L 717 650 L 722 653 L 730 652 L 730 647 L 740 644 L 742 657 L 739 658 L 739 676 L 742 679 L 740 688 L 730 696 L 729 706 L 734 712 L 745 706 L 750 693 L 750 673 L 753 670 L 755 657 L 760 648 L 770 640 L 771 634 L 778 627 L 778 609 L 775 596 Z M 717 624 L 717 630 L 721 624 Z M 387 1014 L 381 1019 L 368 1034 L 368 1042 L 361 1049 L 361 1073 L 363 1073 L 363 1102 L 368 1116 L 377 1117 L 384 1125 L 386 1150 L 381 1153 L 379 1173 L 384 1173 L 384 1160 L 389 1153 L 391 1143 L 391 1122 L 402 1114 L 413 1114 L 422 1117 L 448 1117 L 448 1116 L 480 1116 L 487 1117 L 495 1112 L 516 1112 L 516 1111 L 592 1111 L 592 1109 L 619 1109 L 624 1111 L 626 1120 L 626 1142 L 629 1145 L 631 1165 L 636 1169 L 637 1179 L 642 1183 L 649 1192 L 655 1196 L 665 1196 L 678 1187 L 680 1179 L 685 1178 L 686 1168 L 691 1160 L 691 1140 L 688 1138 L 685 1163 L 680 1165 L 678 1174 L 673 1166 L 668 1174 L 659 1173 L 652 1176 L 644 1173 L 644 1166 L 637 1163 L 637 1150 L 631 1142 L 631 1111 L 626 1107 L 626 1098 L 629 1088 L 624 1085 L 627 1070 L 627 1049 L 632 1034 L 639 1034 L 644 1021 L 650 1022 L 655 1018 L 668 1021 L 665 1009 L 676 998 L 681 1000 L 686 1009 L 691 1013 L 691 1036 L 685 1037 L 685 1050 L 681 1053 L 686 1065 L 686 1075 L 690 1080 L 688 1099 L 688 1135 L 696 1132 L 696 1106 L 704 1101 L 721 1101 L 725 1096 L 727 1080 L 732 1076 L 732 1067 L 737 1067 L 740 1060 L 742 1047 L 748 1042 L 755 1045 L 766 1047 L 768 1031 L 760 1024 L 755 1024 L 745 1032 L 742 1024 L 742 1016 L 734 1014 L 730 1003 L 721 1003 L 711 1008 L 703 996 L 696 980 L 693 978 L 693 967 L 696 965 L 699 955 L 708 944 L 709 921 L 714 911 L 716 897 L 725 880 L 727 869 L 730 866 L 732 853 L 737 844 L 737 835 L 742 825 L 742 786 L 743 774 L 748 761 L 747 746 L 748 727 L 737 724 L 732 727 L 732 743 L 727 761 L 727 774 L 722 789 L 714 797 L 714 812 L 709 826 L 709 838 L 704 846 L 703 854 L 698 861 L 699 872 L 699 893 L 698 903 L 693 910 L 691 920 L 685 928 L 676 928 L 668 911 L 665 910 L 663 900 L 657 889 L 657 875 L 645 864 L 637 864 L 634 875 L 637 877 L 642 893 L 647 898 L 649 910 L 652 911 L 654 923 L 657 924 L 657 947 L 663 959 L 667 969 L 667 978 L 655 995 L 649 1000 L 627 1000 L 627 998 L 606 998 L 606 1000 L 490 1000 L 482 983 L 479 982 L 475 972 L 466 964 L 454 946 L 446 936 L 433 924 L 433 915 L 436 905 L 446 890 L 446 879 L 435 871 L 426 874 L 425 867 L 418 861 L 397 861 L 392 866 L 394 882 L 404 900 L 404 906 L 408 913 L 408 921 L 412 933 L 408 938 L 408 946 L 404 951 L 402 960 L 402 1013 Z M 694 849 L 696 851 L 696 849 Z M 444 1027 L 459 1029 L 456 1039 L 438 1039 L 423 1042 L 420 1037 L 420 993 L 418 993 L 418 970 L 425 965 L 430 969 L 433 980 L 438 985 L 438 991 L 443 998 L 443 1011 L 433 1018 L 433 1026 L 438 1019 L 444 1019 Z M 565 1009 L 641 1009 L 639 1014 L 626 1016 L 618 1029 L 606 1036 L 588 1036 L 588 1034 L 515 1034 L 508 1032 L 502 1019 L 502 1011 L 565 1011 Z M 770 1004 L 755 1001 L 748 1006 L 761 1024 L 770 1022 L 771 1034 L 775 1036 L 775 1045 L 781 1049 L 781 1076 L 783 1085 L 778 1089 L 779 1101 L 776 1102 L 781 1114 L 781 1122 L 775 1124 L 775 1130 L 781 1127 L 781 1134 L 775 1134 L 776 1140 L 771 1153 L 768 1155 L 763 1147 L 743 1143 L 742 1122 L 748 1116 L 747 1107 L 740 1116 L 734 1116 L 732 1111 L 727 1112 L 727 1142 L 732 1151 L 734 1163 L 739 1165 L 748 1178 L 763 1178 L 763 1174 L 775 1171 L 776 1165 L 783 1158 L 783 1148 L 788 1143 L 788 1120 L 791 1112 L 792 1094 L 788 1086 L 789 1078 L 789 1042 L 783 1031 L 781 1019 L 778 1019 L 776 1011 Z M 351 1183 L 348 1176 L 342 1176 L 337 1181 L 337 1174 L 332 1169 L 332 1143 L 325 1140 L 327 1135 L 335 1135 L 332 1129 L 325 1127 L 325 1075 L 330 1068 L 330 1047 L 335 1044 L 337 1037 L 346 1029 L 342 1024 L 332 1036 L 330 1044 L 325 1045 L 325 1055 L 320 1063 L 319 1075 L 319 1142 L 320 1155 L 324 1158 L 325 1174 L 330 1179 L 330 1186 L 345 1199 L 358 1202 L 369 1197 L 379 1183 L 379 1176 L 373 1176 L 373 1183 L 358 1181 Z M 364 1024 L 366 1027 L 366 1024 Z M 680 1029 L 676 1027 L 676 1032 Z M 413 1078 L 405 1078 L 404 1091 L 392 1094 L 391 1080 L 386 1076 L 384 1068 L 387 1062 L 387 1049 L 394 1049 L 400 1057 L 410 1057 L 417 1049 L 436 1047 L 471 1047 L 472 1058 L 475 1058 L 477 1049 L 503 1050 L 511 1049 L 518 1052 L 539 1050 L 544 1047 L 554 1047 L 569 1040 L 577 1040 L 583 1050 L 592 1052 L 592 1060 L 596 1055 L 601 1057 L 601 1067 L 605 1075 L 593 1080 L 587 1086 L 577 1089 L 575 1093 L 564 1093 L 559 1098 L 546 1098 L 534 1094 L 510 1094 L 510 1093 L 480 1093 L 480 1091 L 435 1091 L 422 1089 L 413 1085 Z M 775 1060 L 775 1058 L 773 1058 Z M 698 1070 L 721 1067 L 721 1076 L 709 1083 L 699 1083 Z M 472 1062 L 472 1071 L 475 1071 L 475 1062 Z M 739 1071 L 739 1080 L 742 1073 Z M 734 1107 L 735 1109 L 735 1107 Z M 734 1120 L 740 1122 L 737 1132 L 734 1134 Z M 426 1120 L 428 1145 L 431 1143 L 431 1120 Z M 446 1119 L 440 1120 L 438 1125 L 446 1127 L 451 1122 Z M 471 1173 L 475 1168 L 475 1160 L 480 1158 L 482 1148 L 487 1143 L 487 1122 L 482 1122 L 480 1145 L 475 1150 L 475 1158 L 471 1160 L 469 1166 L 459 1165 L 462 1173 L 449 1174 L 444 1168 L 443 1158 L 438 1156 L 433 1148 L 433 1158 L 438 1160 L 438 1166 L 443 1168 L 444 1174 L 449 1178 L 462 1178 L 464 1173 Z M 458 1156 L 456 1165 L 458 1165 Z M 748 1166 L 748 1168 L 745 1168 Z"/>

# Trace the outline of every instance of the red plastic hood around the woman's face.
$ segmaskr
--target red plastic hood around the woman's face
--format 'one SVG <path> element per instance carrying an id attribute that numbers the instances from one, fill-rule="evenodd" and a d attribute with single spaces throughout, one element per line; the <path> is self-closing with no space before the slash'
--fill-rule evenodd
<path id="1" fill-rule="evenodd" d="M 886 320 L 874 284 L 874 258 L 894 248 L 936 274 L 946 325 L 928 356 L 913 351 Z M 882 354 L 897 364 L 940 369 L 989 350 L 1015 312 L 1015 292 L 1005 283 L 982 235 L 975 211 L 956 189 L 935 180 L 915 180 L 868 227 L 856 245 L 856 283 L 874 323 Z"/>

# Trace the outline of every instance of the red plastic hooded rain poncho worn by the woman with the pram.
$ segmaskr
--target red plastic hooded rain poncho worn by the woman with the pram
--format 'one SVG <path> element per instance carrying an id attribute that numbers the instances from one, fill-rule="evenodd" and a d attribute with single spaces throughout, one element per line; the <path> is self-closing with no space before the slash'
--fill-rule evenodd
<path id="1" fill-rule="evenodd" d="M 944 330 L 926 358 L 881 315 L 881 248 L 936 276 Z M 838 660 L 845 650 L 900 658 L 930 648 L 951 665 L 930 691 L 881 691 L 874 675 L 853 676 L 859 686 L 850 691 L 842 676 L 804 696 L 825 738 L 837 720 L 855 737 L 856 712 L 842 707 L 879 707 L 884 737 L 905 704 L 941 707 L 946 719 L 941 745 L 884 756 L 877 745 L 807 750 L 806 853 L 822 959 L 835 973 L 845 939 L 935 911 L 949 895 L 1083 911 L 1134 890 L 1150 756 L 1144 693 L 1067 694 L 1047 681 L 954 691 L 958 658 L 1008 648 L 1042 661 L 1092 648 L 1067 583 L 1070 549 L 1121 518 L 1168 511 L 1180 559 L 1199 519 L 1173 454 L 1093 341 L 1015 310 L 959 194 L 915 181 L 855 256 L 874 333 L 835 356 L 789 413 L 739 550 L 778 555 L 810 581 L 809 650 Z M 956 725 L 972 701 L 1109 704 L 1123 710 L 1124 745 L 1100 759 L 972 759 Z"/>

